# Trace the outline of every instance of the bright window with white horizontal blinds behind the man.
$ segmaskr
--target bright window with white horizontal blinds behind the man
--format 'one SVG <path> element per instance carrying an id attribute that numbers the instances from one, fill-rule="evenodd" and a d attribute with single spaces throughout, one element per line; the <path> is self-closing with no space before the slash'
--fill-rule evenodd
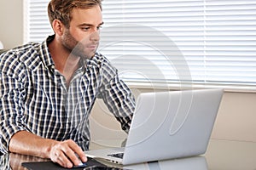
<path id="1" fill-rule="evenodd" d="M 48 2 L 26 0 L 26 41 L 50 34 Z M 256 0 L 102 3 L 99 50 L 131 85 L 256 90 Z"/>

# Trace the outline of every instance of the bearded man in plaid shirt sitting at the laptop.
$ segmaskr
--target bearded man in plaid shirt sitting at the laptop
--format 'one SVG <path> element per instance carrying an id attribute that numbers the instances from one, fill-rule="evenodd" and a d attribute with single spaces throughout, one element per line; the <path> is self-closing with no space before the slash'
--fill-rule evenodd
<path id="1" fill-rule="evenodd" d="M 0 151 L 73 167 L 87 161 L 96 97 L 126 132 L 135 101 L 108 59 L 96 53 L 101 0 L 51 0 L 48 13 L 54 36 L 0 57 Z"/>

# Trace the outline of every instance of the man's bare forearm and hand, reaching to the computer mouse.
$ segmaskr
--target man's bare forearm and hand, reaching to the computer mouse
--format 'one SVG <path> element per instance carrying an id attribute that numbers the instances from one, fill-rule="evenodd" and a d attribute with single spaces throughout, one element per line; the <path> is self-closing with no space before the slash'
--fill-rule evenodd
<path id="1" fill-rule="evenodd" d="M 56 141 L 43 139 L 36 134 L 20 131 L 9 141 L 9 151 L 30 156 L 49 158 L 62 167 L 79 165 L 80 160 L 87 161 L 83 150 L 73 140 Z M 77 156 L 79 156 L 79 158 Z"/>

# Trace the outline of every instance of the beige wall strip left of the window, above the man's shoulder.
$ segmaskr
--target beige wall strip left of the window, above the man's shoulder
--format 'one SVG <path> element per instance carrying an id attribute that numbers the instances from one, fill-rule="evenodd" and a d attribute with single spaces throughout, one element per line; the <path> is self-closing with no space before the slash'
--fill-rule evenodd
<path id="1" fill-rule="evenodd" d="M 0 1 L 0 41 L 4 48 L 23 43 L 23 0 Z"/>

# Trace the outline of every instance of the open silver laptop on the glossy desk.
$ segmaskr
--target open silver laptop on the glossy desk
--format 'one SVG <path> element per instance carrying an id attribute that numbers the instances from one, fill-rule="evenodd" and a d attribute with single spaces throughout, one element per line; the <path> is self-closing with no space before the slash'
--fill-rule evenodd
<path id="1" fill-rule="evenodd" d="M 125 147 L 85 154 L 123 165 L 204 154 L 222 95 L 223 89 L 140 94 Z"/>

